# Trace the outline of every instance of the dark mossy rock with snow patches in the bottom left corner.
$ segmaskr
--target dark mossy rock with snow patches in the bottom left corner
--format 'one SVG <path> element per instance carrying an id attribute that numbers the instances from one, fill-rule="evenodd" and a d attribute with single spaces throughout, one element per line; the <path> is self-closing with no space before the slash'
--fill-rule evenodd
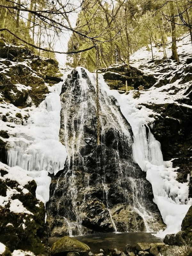
<path id="1" fill-rule="evenodd" d="M 8 172 L 4 170 L 0 172 L 0 196 L 5 197 L 12 191 L 8 203 L 4 207 L 0 206 L 0 241 L 11 252 L 21 249 L 35 254 L 45 253 L 45 207 L 36 199 L 36 182 L 32 180 L 22 187 L 17 181 L 3 180 L 2 177 Z M 28 192 L 23 189 L 28 189 Z M 12 202 L 15 203 L 15 207 L 12 206 L 11 209 Z M 20 206 L 17 204 L 20 203 L 30 213 L 18 212 Z"/>

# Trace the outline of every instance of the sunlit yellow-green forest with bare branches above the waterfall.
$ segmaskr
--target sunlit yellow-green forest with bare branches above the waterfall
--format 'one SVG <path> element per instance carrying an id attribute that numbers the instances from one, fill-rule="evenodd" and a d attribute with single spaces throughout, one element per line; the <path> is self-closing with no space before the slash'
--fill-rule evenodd
<path id="1" fill-rule="evenodd" d="M 153 59 L 153 43 L 155 47 L 163 46 L 165 59 L 170 57 L 165 50 L 169 44 L 172 58 L 179 63 L 177 42 L 186 33 L 192 40 L 188 0 L 2 0 L 0 10 L 1 35 L 10 43 L 23 42 L 38 55 L 52 58 L 54 52 L 59 52 L 56 42 L 65 40 L 67 64 L 91 71 L 96 68 L 95 45 L 99 48 L 100 67 L 107 68 L 114 63 L 129 64 L 130 55 L 143 46 L 150 48 Z M 68 42 L 66 33 L 70 34 Z M 168 43 L 168 37 L 172 42 Z"/>

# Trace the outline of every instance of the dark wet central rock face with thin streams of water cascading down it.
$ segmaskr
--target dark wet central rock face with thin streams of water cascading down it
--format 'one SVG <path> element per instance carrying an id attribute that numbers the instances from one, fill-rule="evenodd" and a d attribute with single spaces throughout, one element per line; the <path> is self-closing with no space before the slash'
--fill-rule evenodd
<path id="1" fill-rule="evenodd" d="M 132 160 L 132 130 L 115 99 L 101 88 L 97 146 L 95 89 L 73 70 L 61 91 L 60 140 L 69 157 L 52 177 L 47 215 L 51 236 L 158 230 L 163 222 L 146 173 Z"/>

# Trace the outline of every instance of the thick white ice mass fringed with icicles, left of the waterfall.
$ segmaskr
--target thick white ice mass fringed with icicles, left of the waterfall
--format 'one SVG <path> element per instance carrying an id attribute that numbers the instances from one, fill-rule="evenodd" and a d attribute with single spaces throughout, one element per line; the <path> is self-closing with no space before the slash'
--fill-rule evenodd
<path id="1" fill-rule="evenodd" d="M 54 174 L 63 169 L 67 152 L 59 141 L 60 108 L 59 94 L 51 92 L 30 112 L 26 125 L 17 125 L 9 132 L 12 135 L 6 140 L 9 166 L 19 165 L 25 170 L 46 170 Z"/>

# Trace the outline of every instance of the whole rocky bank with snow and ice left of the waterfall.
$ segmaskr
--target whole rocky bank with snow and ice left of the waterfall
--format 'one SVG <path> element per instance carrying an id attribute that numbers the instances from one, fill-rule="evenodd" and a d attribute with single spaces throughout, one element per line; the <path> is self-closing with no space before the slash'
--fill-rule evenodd
<path id="1" fill-rule="evenodd" d="M 1 242 L 11 251 L 44 253 L 48 173 L 63 169 L 67 157 L 59 141 L 62 82 L 45 83 L 45 74 L 58 76 L 54 60 L 38 59 L 25 46 L 6 41 L 1 47 L 0 57 L 6 51 L 16 55 L 0 58 Z"/>

